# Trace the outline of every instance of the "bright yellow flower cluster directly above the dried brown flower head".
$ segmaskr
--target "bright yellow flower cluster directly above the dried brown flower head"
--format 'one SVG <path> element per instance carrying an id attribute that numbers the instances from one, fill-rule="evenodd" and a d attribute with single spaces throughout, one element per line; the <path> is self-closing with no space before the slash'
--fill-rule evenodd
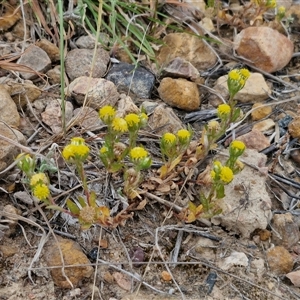
<path id="1" fill-rule="evenodd" d="M 63 149 L 62 155 L 68 161 L 78 160 L 83 162 L 90 153 L 90 148 L 81 137 L 74 137 L 71 143 Z"/>

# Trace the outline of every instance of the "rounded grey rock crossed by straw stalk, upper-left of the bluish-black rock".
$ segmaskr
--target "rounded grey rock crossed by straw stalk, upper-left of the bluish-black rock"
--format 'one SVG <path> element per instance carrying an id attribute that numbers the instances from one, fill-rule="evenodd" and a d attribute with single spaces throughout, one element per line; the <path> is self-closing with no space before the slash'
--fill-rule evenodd
<path id="1" fill-rule="evenodd" d="M 67 53 L 65 61 L 66 73 L 71 81 L 81 76 L 89 77 L 93 54 L 94 50 L 90 49 L 74 49 Z M 92 77 L 101 78 L 104 76 L 109 61 L 108 52 L 102 48 L 98 48 Z"/>

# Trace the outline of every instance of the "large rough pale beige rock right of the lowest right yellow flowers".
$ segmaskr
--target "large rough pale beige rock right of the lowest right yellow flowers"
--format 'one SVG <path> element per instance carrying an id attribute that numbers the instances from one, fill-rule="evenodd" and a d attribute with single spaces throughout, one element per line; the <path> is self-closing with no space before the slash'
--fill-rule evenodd
<path id="1" fill-rule="evenodd" d="M 241 159 L 261 167 L 266 162 L 264 154 L 252 149 L 246 149 Z M 220 200 L 223 212 L 213 217 L 212 222 L 245 238 L 249 238 L 255 229 L 266 229 L 272 217 L 266 179 L 262 173 L 245 165 L 225 186 L 225 197 Z"/>

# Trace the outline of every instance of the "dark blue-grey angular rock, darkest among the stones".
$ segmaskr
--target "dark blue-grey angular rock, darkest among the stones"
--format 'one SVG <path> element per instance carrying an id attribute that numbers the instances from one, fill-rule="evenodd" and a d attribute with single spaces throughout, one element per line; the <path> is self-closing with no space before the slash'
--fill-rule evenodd
<path id="1" fill-rule="evenodd" d="M 106 75 L 117 87 L 130 89 L 140 98 L 150 98 L 155 76 L 145 68 L 128 63 L 114 64 Z"/>

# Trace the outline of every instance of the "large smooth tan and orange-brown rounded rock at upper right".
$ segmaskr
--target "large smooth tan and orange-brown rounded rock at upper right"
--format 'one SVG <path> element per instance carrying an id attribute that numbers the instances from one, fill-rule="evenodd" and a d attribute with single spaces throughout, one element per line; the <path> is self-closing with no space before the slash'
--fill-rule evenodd
<path id="1" fill-rule="evenodd" d="M 235 36 L 234 49 L 255 67 L 269 73 L 284 68 L 294 53 L 293 43 L 267 26 L 243 29 Z"/>

